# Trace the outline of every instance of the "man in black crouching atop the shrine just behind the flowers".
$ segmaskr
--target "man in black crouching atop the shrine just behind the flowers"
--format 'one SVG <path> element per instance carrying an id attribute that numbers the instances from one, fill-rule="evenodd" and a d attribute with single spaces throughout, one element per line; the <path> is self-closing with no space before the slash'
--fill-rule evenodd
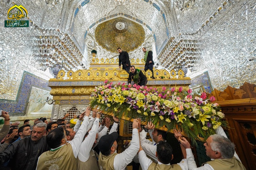
<path id="1" fill-rule="evenodd" d="M 135 84 L 145 86 L 148 82 L 146 76 L 142 73 L 142 70 L 135 69 L 134 66 L 130 66 L 130 73 L 128 78 L 128 85 L 132 84 L 132 80 Z"/>

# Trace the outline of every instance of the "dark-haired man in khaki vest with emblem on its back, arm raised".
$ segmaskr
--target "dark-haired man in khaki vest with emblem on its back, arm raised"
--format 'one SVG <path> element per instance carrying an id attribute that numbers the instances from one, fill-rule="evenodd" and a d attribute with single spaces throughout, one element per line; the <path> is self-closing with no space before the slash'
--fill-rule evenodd
<path id="1" fill-rule="evenodd" d="M 85 114 L 85 118 L 78 132 L 76 133 L 74 139 L 69 143 L 66 143 L 66 131 L 59 126 L 53 129 L 47 135 L 47 144 L 50 151 L 44 152 L 37 162 L 37 170 L 46 169 L 61 169 L 70 170 L 77 169 L 76 157 L 79 152 L 80 145 L 86 134 L 87 125 L 89 124 L 89 115 L 91 108 L 87 107 L 86 111 L 82 113 Z"/>

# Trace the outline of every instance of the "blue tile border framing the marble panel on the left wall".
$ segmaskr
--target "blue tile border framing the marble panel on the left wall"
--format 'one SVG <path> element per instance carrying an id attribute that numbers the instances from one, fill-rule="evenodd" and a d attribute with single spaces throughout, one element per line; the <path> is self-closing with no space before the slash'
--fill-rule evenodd
<path id="1" fill-rule="evenodd" d="M 56 84 L 56 82 L 54 83 Z M 51 90 L 51 88 L 48 87 L 47 80 L 43 80 L 31 73 L 24 71 L 16 100 L 0 100 L 0 109 L 9 112 L 11 115 L 25 115 L 33 86 L 43 90 Z"/>

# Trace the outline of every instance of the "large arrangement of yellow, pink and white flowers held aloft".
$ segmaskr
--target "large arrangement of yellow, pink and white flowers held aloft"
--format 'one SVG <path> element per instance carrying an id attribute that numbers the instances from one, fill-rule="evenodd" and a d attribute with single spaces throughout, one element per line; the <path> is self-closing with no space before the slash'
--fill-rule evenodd
<path id="1" fill-rule="evenodd" d="M 206 140 L 226 122 L 221 120 L 224 114 L 219 104 L 210 103 L 215 100 L 213 96 L 207 99 L 205 92 L 200 96 L 191 93 L 191 89 L 185 91 L 182 87 L 176 90 L 165 86 L 158 89 L 136 84 L 113 85 L 106 80 L 91 93 L 90 105 L 119 117 L 152 121 L 157 127 L 165 126 L 167 131 L 178 126 L 196 144 L 199 136 Z"/>

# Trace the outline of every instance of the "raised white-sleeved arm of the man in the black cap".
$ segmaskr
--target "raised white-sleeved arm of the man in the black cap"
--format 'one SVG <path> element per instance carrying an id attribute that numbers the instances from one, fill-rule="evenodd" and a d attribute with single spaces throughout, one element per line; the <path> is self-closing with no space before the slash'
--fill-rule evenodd
<path id="1" fill-rule="evenodd" d="M 130 142 L 130 146 L 122 153 L 117 154 L 114 157 L 114 169 L 124 169 L 126 166 L 132 162 L 132 159 L 139 151 L 139 121 L 137 119 L 133 120 L 133 133 L 132 133 L 132 141 Z"/>

